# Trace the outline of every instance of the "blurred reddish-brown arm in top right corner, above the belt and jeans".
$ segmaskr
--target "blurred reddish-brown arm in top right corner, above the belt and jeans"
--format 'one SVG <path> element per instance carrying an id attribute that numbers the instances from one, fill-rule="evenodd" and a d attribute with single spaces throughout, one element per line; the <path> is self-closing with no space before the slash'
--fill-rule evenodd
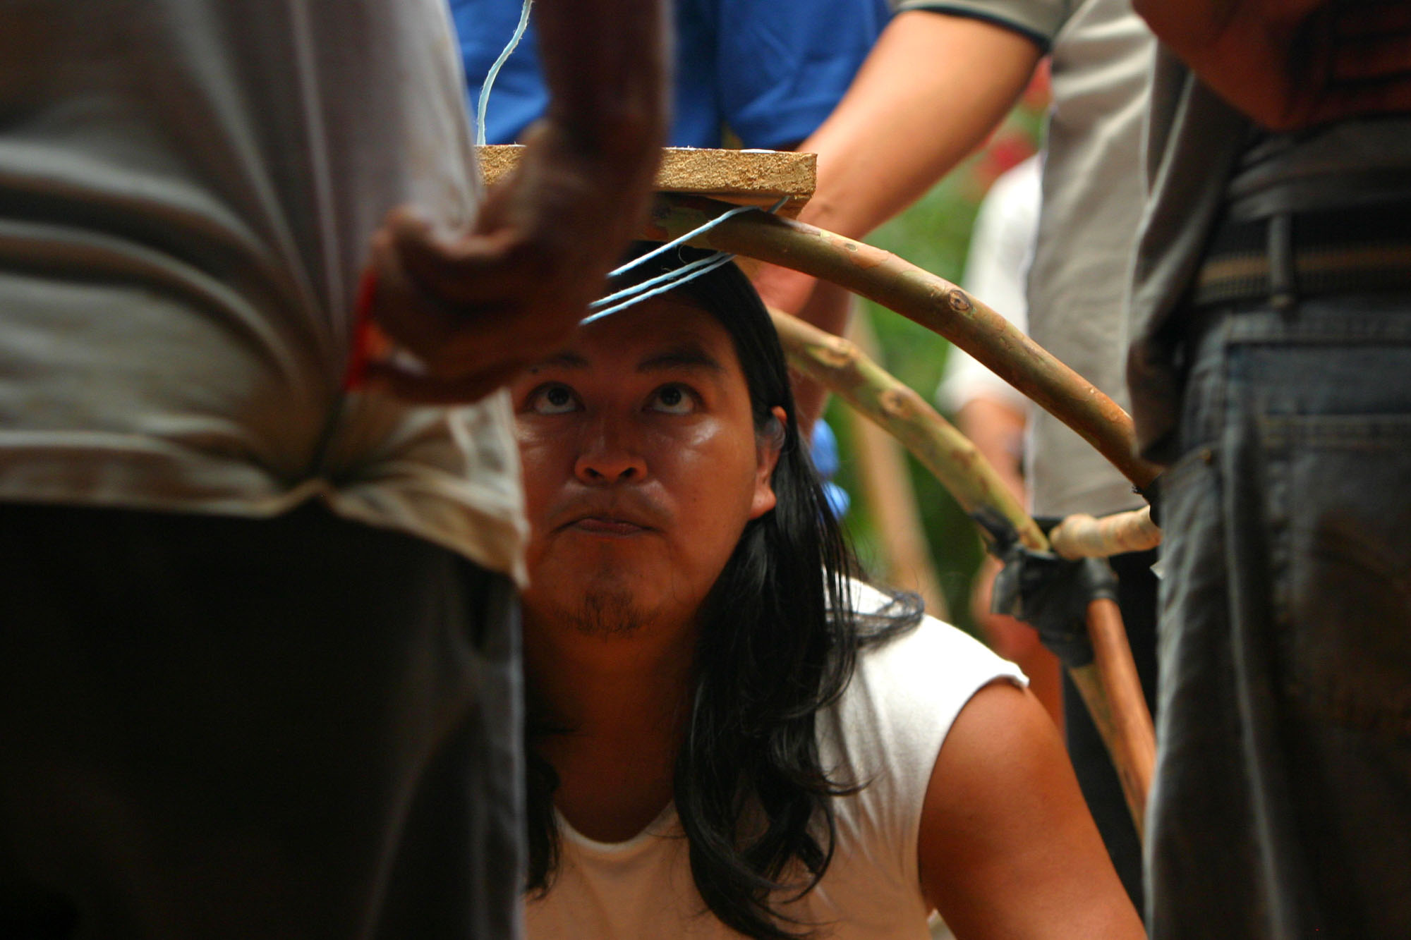
<path id="1" fill-rule="evenodd" d="M 1411 110 L 1407 0 L 1133 0 L 1221 97 L 1270 130 Z"/>

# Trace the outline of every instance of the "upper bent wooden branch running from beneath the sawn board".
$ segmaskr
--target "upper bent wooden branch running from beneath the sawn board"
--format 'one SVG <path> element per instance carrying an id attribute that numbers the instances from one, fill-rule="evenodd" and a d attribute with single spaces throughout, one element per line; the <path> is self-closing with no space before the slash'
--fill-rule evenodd
<path id="1" fill-rule="evenodd" d="M 662 196 L 652 210 L 652 237 L 684 236 L 718 216 L 720 206 Z M 950 281 L 890 251 L 762 212 L 728 219 L 691 243 L 794 268 L 896 311 L 951 340 L 1077 430 L 1139 488 L 1156 478 L 1158 467 L 1136 456 L 1127 412 Z"/>

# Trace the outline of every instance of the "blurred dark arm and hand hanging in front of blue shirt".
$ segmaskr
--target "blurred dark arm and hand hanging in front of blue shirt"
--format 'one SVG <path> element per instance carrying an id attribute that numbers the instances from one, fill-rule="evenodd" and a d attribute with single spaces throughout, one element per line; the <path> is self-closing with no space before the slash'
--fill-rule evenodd
<path id="1" fill-rule="evenodd" d="M 663 0 L 539 0 L 550 103 L 468 233 L 394 210 L 374 237 L 374 319 L 423 368 L 373 380 L 474 401 L 560 346 L 639 231 L 666 133 Z"/>

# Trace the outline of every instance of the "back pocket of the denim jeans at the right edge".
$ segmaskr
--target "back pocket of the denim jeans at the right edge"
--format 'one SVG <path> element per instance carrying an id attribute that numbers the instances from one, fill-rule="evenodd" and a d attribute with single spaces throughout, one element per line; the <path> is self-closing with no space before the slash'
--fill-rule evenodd
<path id="1" fill-rule="evenodd" d="M 1411 415 L 1264 422 L 1283 692 L 1411 737 Z"/>

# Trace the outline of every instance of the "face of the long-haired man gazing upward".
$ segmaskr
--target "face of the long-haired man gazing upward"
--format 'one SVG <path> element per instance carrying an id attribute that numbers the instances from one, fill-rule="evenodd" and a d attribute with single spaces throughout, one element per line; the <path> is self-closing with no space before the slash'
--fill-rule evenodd
<path id="1" fill-rule="evenodd" d="M 756 440 L 729 335 L 653 298 L 581 329 L 512 394 L 526 620 L 593 634 L 694 622 L 745 524 L 775 505 L 777 446 Z"/>

